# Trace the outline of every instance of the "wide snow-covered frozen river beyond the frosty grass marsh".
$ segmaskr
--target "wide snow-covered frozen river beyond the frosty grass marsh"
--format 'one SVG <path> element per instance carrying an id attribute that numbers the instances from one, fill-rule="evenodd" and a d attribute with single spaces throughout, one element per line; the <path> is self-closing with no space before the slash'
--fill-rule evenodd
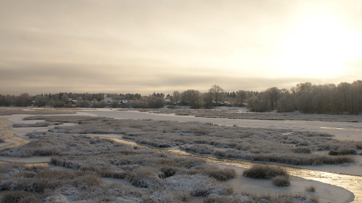
<path id="1" fill-rule="evenodd" d="M 277 120 L 248 120 L 228 118 L 204 118 L 195 116 L 176 116 L 174 114 L 148 113 L 139 111 L 113 111 L 111 109 L 85 109 L 84 112 L 93 116 L 105 116 L 123 119 L 153 119 L 171 121 L 211 122 L 218 125 L 237 125 L 252 128 L 278 128 L 292 130 L 311 130 L 335 135 L 335 139 L 362 141 L 362 123 L 355 122 L 325 122 L 325 121 L 277 121 Z M 82 113 L 83 115 L 84 112 Z"/>

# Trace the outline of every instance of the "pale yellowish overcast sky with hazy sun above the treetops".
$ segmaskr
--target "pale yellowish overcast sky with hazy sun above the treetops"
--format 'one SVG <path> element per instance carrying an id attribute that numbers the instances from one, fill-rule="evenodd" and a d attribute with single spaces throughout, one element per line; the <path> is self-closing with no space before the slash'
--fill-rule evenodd
<path id="1" fill-rule="evenodd" d="M 361 0 L 0 0 L 0 94 L 362 79 Z"/>

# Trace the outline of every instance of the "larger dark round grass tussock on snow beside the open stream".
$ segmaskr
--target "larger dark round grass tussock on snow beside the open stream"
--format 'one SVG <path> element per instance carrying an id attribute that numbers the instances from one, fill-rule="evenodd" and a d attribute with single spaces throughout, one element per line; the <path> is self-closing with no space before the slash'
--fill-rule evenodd
<path id="1" fill-rule="evenodd" d="M 251 178 L 271 179 L 277 176 L 287 176 L 285 169 L 273 165 L 254 165 L 252 168 L 243 171 L 243 176 Z"/>

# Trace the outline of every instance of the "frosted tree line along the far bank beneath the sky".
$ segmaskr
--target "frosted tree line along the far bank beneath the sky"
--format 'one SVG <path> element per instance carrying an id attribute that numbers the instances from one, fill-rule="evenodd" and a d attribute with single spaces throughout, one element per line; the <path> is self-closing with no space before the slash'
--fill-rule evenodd
<path id="1" fill-rule="evenodd" d="M 132 93 L 59 92 L 40 95 L 22 93 L 18 96 L 0 95 L 0 106 L 74 107 L 72 104 L 66 104 L 66 100 L 72 98 L 77 100 L 76 107 L 102 108 L 108 105 L 102 102 L 105 97 L 115 100 L 110 104 L 113 108 L 119 107 L 118 100 L 129 100 L 130 102 L 121 105 L 126 108 L 160 108 L 165 104 L 163 99 L 169 99 L 171 102 L 167 102 L 168 105 L 177 103 L 177 105 L 189 105 L 191 108 L 247 105 L 250 111 L 255 112 L 277 110 L 278 112 L 359 114 L 362 112 L 362 81 L 341 82 L 338 85 L 316 85 L 305 82 L 298 83 L 289 90 L 270 87 L 261 92 L 246 90 L 226 92 L 222 87 L 212 85 L 207 92 L 190 89 L 182 92 L 174 91 L 172 95 L 153 92 L 149 96 Z"/>

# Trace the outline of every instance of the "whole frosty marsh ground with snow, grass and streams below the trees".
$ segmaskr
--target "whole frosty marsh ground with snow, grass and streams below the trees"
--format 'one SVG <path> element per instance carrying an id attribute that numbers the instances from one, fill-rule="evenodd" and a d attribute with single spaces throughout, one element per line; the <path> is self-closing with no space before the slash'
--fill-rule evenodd
<path id="1" fill-rule="evenodd" d="M 261 120 L 249 120 L 227 118 L 227 111 L 230 117 L 247 115 L 237 110 L 176 111 L 1 108 L 0 160 L 6 161 L 0 163 L 2 200 L 358 202 L 362 198 L 360 116 L 268 113 L 257 114 Z M 205 116 L 202 113 L 206 117 L 195 117 Z M 263 116 L 270 119 L 262 120 Z M 46 164 L 27 164 L 41 162 Z M 266 179 L 248 176 L 245 171 L 260 163 L 272 166 L 265 169 Z M 283 174 L 270 175 L 275 167 Z"/>

